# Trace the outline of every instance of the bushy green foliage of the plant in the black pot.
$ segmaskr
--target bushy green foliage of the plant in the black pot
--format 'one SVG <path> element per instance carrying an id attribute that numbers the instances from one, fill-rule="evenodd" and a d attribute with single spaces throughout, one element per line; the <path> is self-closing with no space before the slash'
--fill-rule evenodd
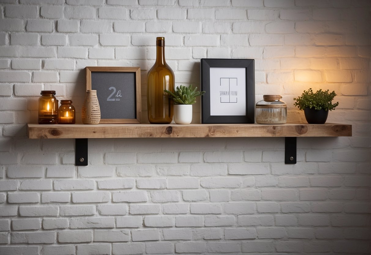
<path id="1" fill-rule="evenodd" d="M 317 90 L 316 93 L 313 93 L 312 88 L 309 88 L 308 91 L 303 92 L 303 94 L 294 98 L 296 100 L 295 106 L 298 106 L 300 110 L 304 110 L 306 107 L 314 108 L 316 110 L 324 109 L 333 110 L 336 106 L 339 105 L 339 102 L 332 103 L 332 100 L 336 96 L 335 91 L 329 93 L 329 90 Z"/>

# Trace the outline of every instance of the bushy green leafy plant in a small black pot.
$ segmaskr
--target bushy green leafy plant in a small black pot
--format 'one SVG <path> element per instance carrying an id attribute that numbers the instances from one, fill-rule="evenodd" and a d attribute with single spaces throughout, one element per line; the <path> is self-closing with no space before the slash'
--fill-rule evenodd
<path id="1" fill-rule="evenodd" d="M 332 103 L 335 96 L 335 91 L 329 93 L 329 90 L 320 89 L 313 93 L 312 88 L 309 88 L 304 90 L 300 97 L 294 98 L 295 106 L 304 110 L 305 119 L 309 124 L 324 124 L 329 110 L 334 110 L 339 105 L 339 102 Z"/>

